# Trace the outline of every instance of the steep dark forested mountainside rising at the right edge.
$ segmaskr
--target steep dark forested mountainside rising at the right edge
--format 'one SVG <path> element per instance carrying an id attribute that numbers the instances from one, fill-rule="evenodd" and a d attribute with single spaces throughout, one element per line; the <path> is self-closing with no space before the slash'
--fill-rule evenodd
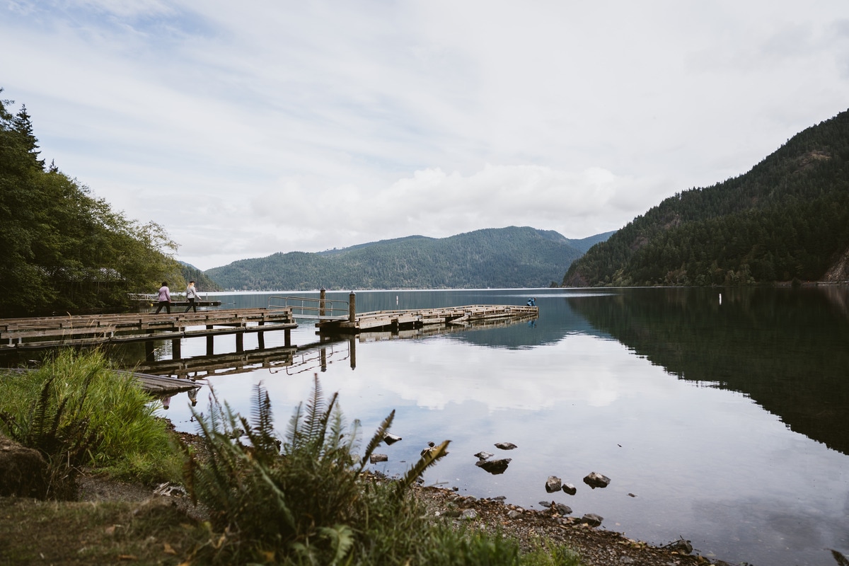
<path id="1" fill-rule="evenodd" d="M 744 175 L 664 200 L 572 263 L 563 284 L 846 280 L 847 255 L 849 111 Z"/>

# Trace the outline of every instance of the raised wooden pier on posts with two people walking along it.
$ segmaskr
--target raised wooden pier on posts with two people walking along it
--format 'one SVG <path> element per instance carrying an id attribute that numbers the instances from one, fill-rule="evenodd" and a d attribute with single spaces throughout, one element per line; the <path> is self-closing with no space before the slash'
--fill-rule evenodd
<path id="1" fill-rule="evenodd" d="M 244 333 L 282 329 L 288 342 L 290 329 L 296 327 L 290 309 L 263 308 L 172 312 L 170 315 L 160 312 L 4 318 L 0 319 L 0 352 L 170 339 L 177 345 L 175 355 L 178 357 L 179 341 L 183 338 L 205 336 L 211 345 L 215 335 L 236 334 L 238 348 Z"/>

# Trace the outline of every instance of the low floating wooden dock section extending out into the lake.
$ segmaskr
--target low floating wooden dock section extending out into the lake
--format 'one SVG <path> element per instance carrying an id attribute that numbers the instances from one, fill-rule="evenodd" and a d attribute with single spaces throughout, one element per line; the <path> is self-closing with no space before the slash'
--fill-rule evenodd
<path id="1" fill-rule="evenodd" d="M 323 333 L 361 333 L 380 328 L 422 328 L 431 325 L 470 326 L 495 320 L 537 317 L 539 308 L 526 305 L 466 305 L 435 309 L 362 312 L 345 321 L 322 321 L 316 326 Z"/>

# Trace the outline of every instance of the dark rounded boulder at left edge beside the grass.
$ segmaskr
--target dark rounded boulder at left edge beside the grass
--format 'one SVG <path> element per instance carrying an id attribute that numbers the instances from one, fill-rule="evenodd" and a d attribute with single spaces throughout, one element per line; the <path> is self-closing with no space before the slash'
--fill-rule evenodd
<path id="1" fill-rule="evenodd" d="M 41 452 L 0 435 L 0 496 L 43 497 L 48 463 Z"/>

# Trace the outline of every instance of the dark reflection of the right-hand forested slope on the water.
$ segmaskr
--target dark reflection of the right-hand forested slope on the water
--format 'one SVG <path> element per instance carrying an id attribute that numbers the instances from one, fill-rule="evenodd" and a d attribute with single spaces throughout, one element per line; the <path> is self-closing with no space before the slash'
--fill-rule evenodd
<path id="1" fill-rule="evenodd" d="M 849 454 L 847 296 L 846 287 L 622 289 L 567 301 L 678 378 L 739 391 Z"/>

